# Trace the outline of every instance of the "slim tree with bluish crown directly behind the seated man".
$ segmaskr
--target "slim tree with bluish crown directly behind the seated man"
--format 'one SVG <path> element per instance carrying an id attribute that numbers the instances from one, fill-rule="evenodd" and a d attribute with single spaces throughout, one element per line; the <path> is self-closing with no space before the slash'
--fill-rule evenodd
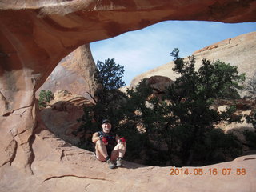
<path id="1" fill-rule="evenodd" d="M 126 85 L 122 81 L 123 73 L 124 66 L 114 62 L 114 58 L 108 58 L 105 62 L 97 62 L 95 78 L 102 87 L 95 93 L 95 105 L 84 107 L 84 114 L 81 119 L 78 119 L 82 122 L 78 130 L 83 133 L 81 147 L 92 150 L 91 138 L 86 138 L 85 135 L 91 135 L 99 130 L 103 118 L 110 119 L 114 129 L 124 118 L 122 106 L 126 102 L 126 94 L 118 90 Z"/>

